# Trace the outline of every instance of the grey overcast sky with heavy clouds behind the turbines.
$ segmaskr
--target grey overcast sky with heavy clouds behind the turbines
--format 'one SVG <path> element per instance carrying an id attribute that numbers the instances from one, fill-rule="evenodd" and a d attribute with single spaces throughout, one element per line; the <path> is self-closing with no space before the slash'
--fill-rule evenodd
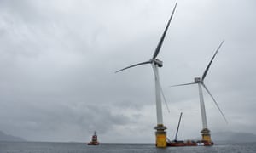
<path id="1" fill-rule="evenodd" d="M 0 0 L 0 130 L 31 141 L 154 143 L 154 74 L 150 59 L 174 0 Z M 221 41 L 205 83 L 212 133 L 256 134 L 256 1 L 178 0 L 158 56 L 174 138 L 200 137 L 196 85 Z M 254 118 L 254 119 L 253 119 Z"/>

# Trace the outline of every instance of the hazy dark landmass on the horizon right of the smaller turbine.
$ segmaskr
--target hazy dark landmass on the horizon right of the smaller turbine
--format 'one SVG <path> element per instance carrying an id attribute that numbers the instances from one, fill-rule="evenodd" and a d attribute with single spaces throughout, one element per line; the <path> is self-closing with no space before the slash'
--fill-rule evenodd
<path id="1" fill-rule="evenodd" d="M 253 133 L 221 132 L 212 133 L 211 136 L 214 142 L 256 142 L 256 135 Z"/>

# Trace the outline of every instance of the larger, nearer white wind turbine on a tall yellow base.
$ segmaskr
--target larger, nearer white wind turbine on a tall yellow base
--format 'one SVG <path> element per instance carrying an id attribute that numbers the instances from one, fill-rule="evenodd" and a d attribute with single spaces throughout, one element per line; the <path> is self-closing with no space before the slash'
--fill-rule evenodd
<path id="1" fill-rule="evenodd" d="M 138 63 L 136 65 L 130 65 L 130 66 L 125 67 L 124 69 L 119 70 L 119 71 L 124 71 L 126 69 L 135 67 L 137 65 L 147 65 L 147 64 L 151 64 L 153 67 L 154 81 L 155 81 L 156 116 L 157 116 L 157 126 L 154 127 L 154 129 L 156 129 L 155 135 L 156 135 L 156 146 L 157 147 L 166 147 L 166 132 L 165 132 L 166 127 L 163 124 L 162 105 L 161 105 L 161 97 L 160 97 L 161 87 L 160 87 L 160 77 L 159 77 L 159 72 L 158 72 L 158 68 L 163 66 L 163 62 L 160 59 L 156 59 L 156 58 L 160 52 L 160 48 L 161 48 L 162 43 L 164 42 L 164 39 L 166 37 L 166 32 L 171 23 L 172 16 L 175 12 L 176 7 L 177 7 L 177 3 L 175 4 L 175 7 L 172 10 L 172 14 L 171 14 L 170 19 L 168 20 L 166 29 L 165 29 L 164 33 L 162 34 L 162 36 L 160 37 L 160 42 L 158 42 L 158 45 L 154 50 L 152 59 L 149 59 L 148 61 L 145 61 L 142 63 Z M 116 71 L 116 72 L 119 72 L 119 71 Z"/>

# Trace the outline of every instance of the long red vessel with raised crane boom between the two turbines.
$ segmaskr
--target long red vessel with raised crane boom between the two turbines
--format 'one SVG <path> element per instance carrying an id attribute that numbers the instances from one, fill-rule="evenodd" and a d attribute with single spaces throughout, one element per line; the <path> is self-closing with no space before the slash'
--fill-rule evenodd
<path id="1" fill-rule="evenodd" d="M 207 142 L 207 141 L 202 141 L 202 140 L 177 140 L 177 133 L 178 133 L 178 129 L 179 129 L 179 125 L 180 125 L 180 121 L 181 121 L 181 117 L 183 116 L 183 113 L 180 113 L 179 116 L 179 120 L 178 120 L 178 124 L 177 124 L 177 131 L 176 131 L 176 135 L 175 135 L 175 139 L 170 141 L 168 140 L 167 142 L 167 146 L 170 147 L 180 147 L 180 146 L 211 146 L 213 145 L 213 142 Z"/>

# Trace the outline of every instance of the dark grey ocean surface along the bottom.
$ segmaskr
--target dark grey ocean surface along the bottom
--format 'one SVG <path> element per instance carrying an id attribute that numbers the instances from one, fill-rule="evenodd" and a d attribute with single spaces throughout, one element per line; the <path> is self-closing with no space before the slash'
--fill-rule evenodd
<path id="1" fill-rule="evenodd" d="M 256 143 L 222 143 L 210 147 L 155 148 L 154 144 L 100 144 L 0 142 L 0 153 L 256 153 Z"/>

